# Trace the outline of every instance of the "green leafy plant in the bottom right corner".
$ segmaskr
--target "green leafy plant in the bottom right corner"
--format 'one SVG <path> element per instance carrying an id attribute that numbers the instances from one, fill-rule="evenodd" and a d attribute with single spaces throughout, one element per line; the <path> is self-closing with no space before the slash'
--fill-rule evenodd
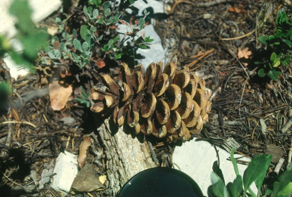
<path id="1" fill-rule="evenodd" d="M 249 166 L 243 173 L 243 177 L 239 175 L 238 167 L 235 158 L 233 157 L 234 148 L 231 150 L 230 158 L 236 174 L 235 180 L 229 182 L 226 186 L 222 173 L 211 173 L 212 185 L 208 188 L 208 196 L 210 197 L 260 197 L 260 196 L 273 196 L 273 197 L 288 197 L 292 193 L 292 168 L 276 177 L 273 182 L 267 184 L 266 191 L 261 194 L 261 188 L 266 176 L 266 171 L 269 168 L 272 155 L 258 155 L 252 159 Z M 220 169 L 219 169 L 220 171 Z M 254 194 L 250 189 L 252 182 L 258 189 L 258 193 Z"/>

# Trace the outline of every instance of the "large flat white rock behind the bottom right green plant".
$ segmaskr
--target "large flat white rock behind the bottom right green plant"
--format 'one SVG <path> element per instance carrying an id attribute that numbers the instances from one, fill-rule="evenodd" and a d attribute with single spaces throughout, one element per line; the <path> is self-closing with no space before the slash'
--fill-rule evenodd
<path id="1" fill-rule="evenodd" d="M 210 175 L 213 172 L 213 163 L 218 158 L 214 147 L 209 142 L 195 140 L 196 138 L 183 143 L 182 146 L 176 146 L 173 151 L 172 162 L 178 165 L 182 172 L 192 177 L 201 188 L 203 194 L 208 196 L 207 189 L 211 185 Z M 233 182 L 236 175 L 231 161 L 227 160 L 230 157 L 230 153 L 219 147 L 217 147 L 217 150 L 225 184 Z M 240 156 L 242 155 L 234 155 L 235 158 Z M 249 158 L 241 158 L 240 160 L 250 161 Z M 174 165 L 174 168 L 178 169 L 176 165 Z M 243 176 L 247 165 L 237 165 L 239 174 Z M 255 194 L 257 193 L 254 183 L 251 185 L 251 189 Z"/>

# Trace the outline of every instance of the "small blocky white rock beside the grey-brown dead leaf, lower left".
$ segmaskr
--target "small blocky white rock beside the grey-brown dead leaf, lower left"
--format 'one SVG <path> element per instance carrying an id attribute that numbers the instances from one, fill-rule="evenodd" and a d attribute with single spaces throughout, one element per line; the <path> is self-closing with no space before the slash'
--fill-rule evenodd
<path id="1" fill-rule="evenodd" d="M 69 192 L 74 178 L 78 172 L 77 155 L 68 151 L 60 153 L 57 157 L 53 176 L 52 187 L 60 192 Z"/>

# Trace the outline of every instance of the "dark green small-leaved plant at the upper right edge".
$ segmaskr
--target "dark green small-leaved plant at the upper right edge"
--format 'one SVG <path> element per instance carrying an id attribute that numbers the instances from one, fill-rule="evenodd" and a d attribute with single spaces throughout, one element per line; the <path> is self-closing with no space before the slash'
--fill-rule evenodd
<path id="1" fill-rule="evenodd" d="M 292 17 L 288 19 L 286 12 L 279 10 L 276 18 L 276 33 L 271 36 L 260 36 L 259 41 L 267 44 L 267 57 L 262 61 L 255 62 L 260 66 L 258 75 L 268 75 L 273 80 L 278 80 L 281 72 L 278 66 L 290 64 L 290 53 L 292 47 Z"/>

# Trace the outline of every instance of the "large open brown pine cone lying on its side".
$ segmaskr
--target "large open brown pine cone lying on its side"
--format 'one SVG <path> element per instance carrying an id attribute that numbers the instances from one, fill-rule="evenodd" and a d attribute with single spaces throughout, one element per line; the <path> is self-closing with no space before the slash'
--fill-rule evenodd
<path id="1" fill-rule="evenodd" d="M 126 122 L 135 133 L 153 134 L 167 141 L 187 141 L 191 134 L 200 133 L 211 110 L 211 90 L 188 66 L 176 72 L 176 64 L 151 63 L 143 73 L 142 65 L 131 73 L 121 63 L 121 87 L 108 75 L 102 76 L 106 91 L 91 89 L 90 98 L 97 100 L 91 110 L 102 115 L 113 113 L 118 126 Z M 112 110 L 111 110 L 112 109 Z"/>

